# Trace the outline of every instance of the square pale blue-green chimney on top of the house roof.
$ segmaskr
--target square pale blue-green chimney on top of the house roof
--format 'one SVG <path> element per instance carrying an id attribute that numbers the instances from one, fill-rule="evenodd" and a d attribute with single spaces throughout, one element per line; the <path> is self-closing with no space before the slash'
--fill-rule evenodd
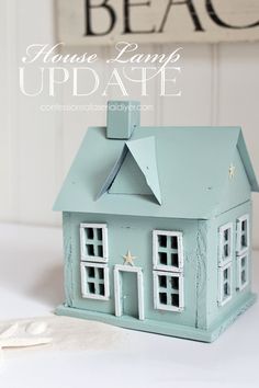
<path id="1" fill-rule="evenodd" d="M 138 101 L 109 101 L 106 137 L 130 139 L 133 130 L 140 124 L 139 107 Z"/>

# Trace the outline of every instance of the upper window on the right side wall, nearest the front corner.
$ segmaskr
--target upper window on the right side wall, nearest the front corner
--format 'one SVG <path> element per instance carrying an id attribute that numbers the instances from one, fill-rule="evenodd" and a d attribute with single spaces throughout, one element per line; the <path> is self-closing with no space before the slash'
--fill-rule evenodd
<path id="1" fill-rule="evenodd" d="M 233 224 L 219 228 L 219 265 L 233 260 Z"/>

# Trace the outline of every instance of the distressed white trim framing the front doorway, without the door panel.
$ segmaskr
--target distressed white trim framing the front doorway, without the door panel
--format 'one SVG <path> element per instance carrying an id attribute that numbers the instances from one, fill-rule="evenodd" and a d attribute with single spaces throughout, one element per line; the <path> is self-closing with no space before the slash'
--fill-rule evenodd
<path id="1" fill-rule="evenodd" d="M 122 307 L 122 276 L 120 272 L 135 272 L 137 274 L 137 299 L 138 299 L 138 319 L 145 319 L 144 312 L 144 286 L 143 286 L 143 271 L 139 266 L 130 265 L 114 265 L 114 298 L 115 298 L 115 316 L 123 315 Z"/>

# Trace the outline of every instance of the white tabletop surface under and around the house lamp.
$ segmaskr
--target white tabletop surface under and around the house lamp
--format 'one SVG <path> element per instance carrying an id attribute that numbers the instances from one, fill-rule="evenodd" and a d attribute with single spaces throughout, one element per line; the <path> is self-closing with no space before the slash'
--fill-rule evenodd
<path id="1" fill-rule="evenodd" d="M 61 249 L 59 229 L 0 226 L 0 320 L 50 316 L 64 299 Z M 126 341 L 103 350 L 25 351 L 8 360 L 0 387 L 258 388 L 258 323 L 256 304 L 213 344 L 116 329 Z"/>

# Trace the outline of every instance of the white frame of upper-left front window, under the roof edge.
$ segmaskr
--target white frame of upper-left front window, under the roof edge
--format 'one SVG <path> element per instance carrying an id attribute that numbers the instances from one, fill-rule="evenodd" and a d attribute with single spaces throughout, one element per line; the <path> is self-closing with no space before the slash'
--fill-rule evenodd
<path id="1" fill-rule="evenodd" d="M 86 229 L 102 229 L 102 256 L 94 256 L 87 254 L 86 248 Z M 80 250 L 81 250 L 81 261 L 90 261 L 90 262 L 102 262 L 106 263 L 109 258 L 108 252 L 108 226 L 106 224 L 80 224 Z"/>

